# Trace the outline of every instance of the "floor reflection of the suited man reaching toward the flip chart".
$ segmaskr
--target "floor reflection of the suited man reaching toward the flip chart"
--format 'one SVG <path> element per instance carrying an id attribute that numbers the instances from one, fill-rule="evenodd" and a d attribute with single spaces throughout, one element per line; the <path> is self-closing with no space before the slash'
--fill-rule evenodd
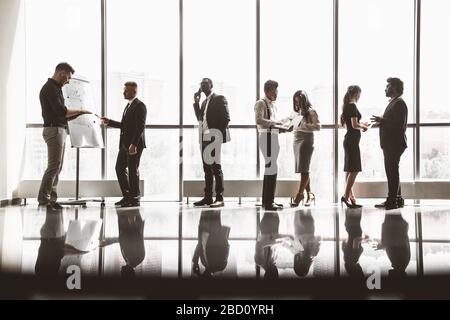
<path id="1" fill-rule="evenodd" d="M 119 225 L 119 238 L 110 239 L 106 245 L 119 242 L 120 251 L 125 261 L 121 267 L 122 276 L 134 276 L 135 268 L 145 258 L 144 224 L 138 208 L 116 209 Z"/>

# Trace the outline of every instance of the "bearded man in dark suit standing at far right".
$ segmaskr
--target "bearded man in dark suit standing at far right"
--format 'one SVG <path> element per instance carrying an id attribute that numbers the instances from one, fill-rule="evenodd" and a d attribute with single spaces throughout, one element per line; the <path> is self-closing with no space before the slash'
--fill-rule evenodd
<path id="1" fill-rule="evenodd" d="M 389 104 L 382 117 L 372 116 L 372 121 L 380 125 L 380 145 L 384 153 L 384 168 L 388 179 L 389 193 L 385 202 L 376 205 L 386 210 L 402 208 L 404 200 L 400 188 L 400 157 L 407 148 L 406 126 L 408 107 L 402 99 L 403 82 L 398 78 L 387 79 L 386 97 Z"/>

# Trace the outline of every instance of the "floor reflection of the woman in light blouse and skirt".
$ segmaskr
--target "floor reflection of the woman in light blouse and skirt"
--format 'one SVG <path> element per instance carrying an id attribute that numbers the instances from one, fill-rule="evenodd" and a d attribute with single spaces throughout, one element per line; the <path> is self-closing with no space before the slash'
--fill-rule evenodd
<path id="1" fill-rule="evenodd" d="M 297 276 L 304 277 L 309 273 L 314 257 L 319 253 L 321 237 L 315 235 L 311 209 L 297 210 L 294 226 L 294 271 Z"/>

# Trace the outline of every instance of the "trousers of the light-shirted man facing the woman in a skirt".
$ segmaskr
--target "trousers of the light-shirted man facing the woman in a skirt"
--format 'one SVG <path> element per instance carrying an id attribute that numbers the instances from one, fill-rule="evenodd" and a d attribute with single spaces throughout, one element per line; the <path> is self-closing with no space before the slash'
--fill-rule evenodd
<path id="1" fill-rule="evenodd" d="M 262 205 L 270 206 L 275 199 L 278 173 L 278 155 L 280 144 L 278 133 L 264 132 L 259 134 L 259 149 L 264 157 L 264 180 L 262 190 Z"/>

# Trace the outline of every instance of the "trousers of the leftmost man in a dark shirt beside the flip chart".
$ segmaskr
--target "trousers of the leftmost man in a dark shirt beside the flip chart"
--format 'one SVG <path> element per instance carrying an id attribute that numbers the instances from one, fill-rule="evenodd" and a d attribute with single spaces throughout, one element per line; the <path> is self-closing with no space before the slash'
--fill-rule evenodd
<path id="1" fill-rule="evenodd" d="M 67 131 L 59 127 L 45 127 L 42 131 L 42 137 L 47 144 L 47 169 L 42 177 L 38 202 L 45 204 L 50 201 L 56 201 L 58 198 L 56 188 L 58 186 L 59 173 L 63 166 Z"/>

